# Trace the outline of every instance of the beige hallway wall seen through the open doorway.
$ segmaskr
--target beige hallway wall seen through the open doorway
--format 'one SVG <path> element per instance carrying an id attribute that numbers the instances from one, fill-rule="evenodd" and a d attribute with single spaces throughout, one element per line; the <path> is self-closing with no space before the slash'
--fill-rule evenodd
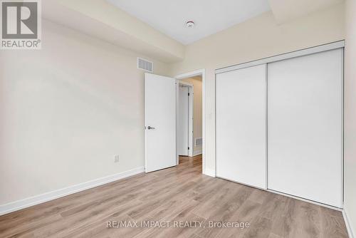
<path id="1" fill-rule="evenodd" d="M 184 78 L 182 81 L 192 83 L 194 86 L 194 130 L 193 130 L 193 155 L 199 155 L 203 152 L 202 145 L 195 145 L 196 138 L 203 137 L 203 98 L 202 98 L 202 81 L 201 76 L 195 76 L 193 78 Z"/>

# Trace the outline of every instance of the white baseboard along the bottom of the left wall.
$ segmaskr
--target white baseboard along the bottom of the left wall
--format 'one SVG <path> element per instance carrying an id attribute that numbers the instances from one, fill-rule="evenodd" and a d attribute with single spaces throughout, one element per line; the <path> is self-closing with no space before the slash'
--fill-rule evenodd
<path id="1" fill-rule="evenodd" d="M 119 172 L 115 175 L 109 175 L 106 177 L 100 177 L 96 180 L 90 180 L 88 182 L 83 182 L 78 185 L 72 185 L 69 187 L 64 187 L 60 190 L 54 190 L 51 192 L 46 192 L 41 195 L 36 195 L 33 197 L 28 197 L 23 200 L 18 200 L 15 202 L 9 202 L 4 205 L 0 205 L 0 215 L 7 214 L 10 212 L 15 212 L 19 209 L 23 209 L 26 207 L 31 207 L 33 205 L 38 205 L 43 202 L 48 202 L 51 200 L 55 200 L 59 197 L 64 197 L 67 195 L 71 195 L 75 192 L 80 192 L 83 190 L 88 190 L 93 187 L 98 187 L 100 185 L 105 185 L 109 182 L 114 182 L 116 180 L 121 180 L 125 177 L 130 177 L 132 175 L 137 175 L 141 172 L 145 172 L 145 167 L 137 167 L 133 170 L 127 170 L 124 172 Z"/>

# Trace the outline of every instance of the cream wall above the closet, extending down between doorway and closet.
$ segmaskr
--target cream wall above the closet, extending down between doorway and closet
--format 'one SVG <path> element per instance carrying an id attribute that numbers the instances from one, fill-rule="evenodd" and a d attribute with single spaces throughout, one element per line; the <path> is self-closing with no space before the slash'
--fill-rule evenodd
<path id="1" fill-rule="evenodd" d="M 206 69 L 206 170 L 215 170 L 215 69 L 342 40 L 344 10 L 339 4 L 287 24 L 277 24 L 267 12 L 187 46 L 171 75 Z"/>

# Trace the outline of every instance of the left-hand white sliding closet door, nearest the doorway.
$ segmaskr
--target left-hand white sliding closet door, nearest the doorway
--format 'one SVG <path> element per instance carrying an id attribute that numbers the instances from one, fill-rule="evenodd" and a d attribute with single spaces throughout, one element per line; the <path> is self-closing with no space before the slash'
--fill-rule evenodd
<path id="1" fill-rule="evenodd" d="M 216 75 L 216 176 L 266 187 L 266 65 Z"/>

